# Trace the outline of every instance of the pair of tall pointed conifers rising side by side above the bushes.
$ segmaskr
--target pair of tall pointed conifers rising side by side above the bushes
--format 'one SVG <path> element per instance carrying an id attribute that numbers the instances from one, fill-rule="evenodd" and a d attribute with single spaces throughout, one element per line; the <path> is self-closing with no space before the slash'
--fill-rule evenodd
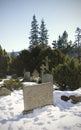
<path id="1" fill-rule="evenodd" d="M 38 21 L 36 16 L 33 15 L 33 20 L 31 22 L 31 31 L 30 31 L 30 46 L 29 49 L 32 50 L 38 45 L 42 47 L 48 46 L 48 30 L 46 29 L 46 25 L 44 20 L 41 20 L 40 28 L 38 27 Z"/>

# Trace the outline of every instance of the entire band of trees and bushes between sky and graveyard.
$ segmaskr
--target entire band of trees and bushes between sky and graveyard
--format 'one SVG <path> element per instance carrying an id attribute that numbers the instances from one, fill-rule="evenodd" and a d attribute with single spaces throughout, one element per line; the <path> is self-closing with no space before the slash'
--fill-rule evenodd
<path id="1" fill-rule="evenodd" d="M 50 47 L 44 19 L 41 20 L 39 27 L 36 16 L 33 15 L 29 49 L 22 50 L 18 55 L 15 55 L 14 51 L 8 55 L 6 50 L 0 46 L 0 78 L 13 74 L 20 77 L 24 75 L 24 70 L 29 71 L 31 75 L 34 70 L 40 74 L 40 66 L 45 64 L 43 61 L 48 56 L 50 59 L 49 73 L 53 74 L 54 82 L 62 87 L 71 86 L 72 89 L 80 87 L 81 29 L 77 27 L 75 33 L 74 43 L 71 40 L 68 41 L 68 33 L 64 31 L 57 40 L 51 43 L 53 47 Z"/>

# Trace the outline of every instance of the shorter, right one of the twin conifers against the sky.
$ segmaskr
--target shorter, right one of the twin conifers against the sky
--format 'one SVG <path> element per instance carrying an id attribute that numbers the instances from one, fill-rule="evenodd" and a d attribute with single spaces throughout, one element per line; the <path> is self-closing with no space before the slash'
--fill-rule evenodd
<path id="1" fill-rule="evenodd" d="M 39 41 L 42 47 L 47 47 L 48 45 L 48 30 L 46 29 L 46 25 L 44 23 L 44 20 L 41 20 L 41 26 L 39 31 L 40 37 Z"/>

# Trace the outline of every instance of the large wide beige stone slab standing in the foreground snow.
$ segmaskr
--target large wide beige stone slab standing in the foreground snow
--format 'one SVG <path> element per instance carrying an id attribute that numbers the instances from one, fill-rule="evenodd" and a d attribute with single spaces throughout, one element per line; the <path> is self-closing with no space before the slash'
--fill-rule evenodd
<path id="1" fill-rule="evenodd" d="M 53 104 L 53 84 L 42 83 L 23 87 L 24 112 Z"/>

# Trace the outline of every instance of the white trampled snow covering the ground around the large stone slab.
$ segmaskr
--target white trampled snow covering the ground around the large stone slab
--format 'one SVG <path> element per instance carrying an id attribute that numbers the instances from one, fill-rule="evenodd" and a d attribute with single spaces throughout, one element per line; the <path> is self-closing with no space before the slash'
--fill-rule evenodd
<path id="1" fill-rule="evenodd" d="M 22 90 L 0 96 L 0 130 L 81 130 L 81 102 L 64 102 L 61 95 L 81 95 L 81 88 L 76 91 L 55 90 L 54 106 L 37 108 L 26 115 L 22 113 Z"/>

